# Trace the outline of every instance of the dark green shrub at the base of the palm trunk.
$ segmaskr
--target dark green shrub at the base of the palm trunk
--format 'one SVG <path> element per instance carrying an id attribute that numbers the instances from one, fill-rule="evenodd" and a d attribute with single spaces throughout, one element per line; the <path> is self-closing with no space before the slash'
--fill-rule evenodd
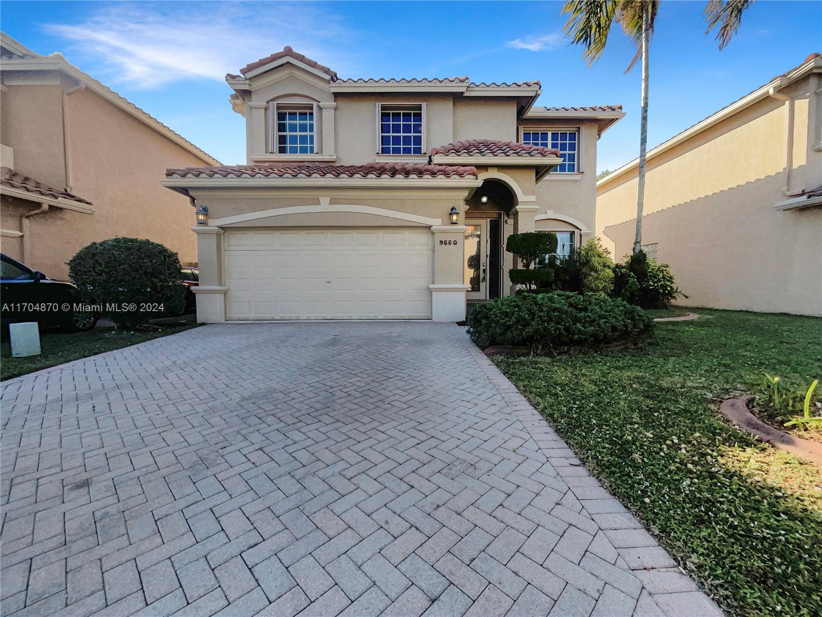
<path id="1" fill-rule="evenodd" d="M 613 294 L 642 308 L 667 308 L 677 295 L 684 295 L 674 282 L 671 267 L 649 261 L 644 251 L 626 256 L 625 263 L 614 267 Z"/>

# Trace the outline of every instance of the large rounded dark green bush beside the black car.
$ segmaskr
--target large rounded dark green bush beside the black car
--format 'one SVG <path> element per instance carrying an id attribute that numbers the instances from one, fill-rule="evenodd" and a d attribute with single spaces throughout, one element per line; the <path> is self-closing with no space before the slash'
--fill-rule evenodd
<path id="1" fill-rule="evenodd" d="M 118 325 L 181 313 L 186 305 L 177 253 L 136 238 L 110 238 L 81 248 L 68 273 L 81 299 Z"/>

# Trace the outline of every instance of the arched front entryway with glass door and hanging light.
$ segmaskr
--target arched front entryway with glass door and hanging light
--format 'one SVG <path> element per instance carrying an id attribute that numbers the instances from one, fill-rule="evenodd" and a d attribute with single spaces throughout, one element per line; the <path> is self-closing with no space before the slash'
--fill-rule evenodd
<path id="1" fill-rule="evenodd" d="M 464 284 L 469 285 L 469 302 L 501 298 L 506 288 L 506 272 L 512 264 L 506 258 L 505 243 L 513 232 L 515 193 L 497 179 L 487 179 L 466 202 Z"/>

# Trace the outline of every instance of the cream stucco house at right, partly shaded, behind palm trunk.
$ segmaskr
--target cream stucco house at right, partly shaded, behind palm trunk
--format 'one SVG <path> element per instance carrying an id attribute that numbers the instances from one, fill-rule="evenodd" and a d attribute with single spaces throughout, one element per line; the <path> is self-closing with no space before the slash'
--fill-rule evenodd
<path id="1" fill-rule="evenodd" d="M 597 235 L 634 242 L 637 161 L 597 183 Z M 822 315 L 822 57 L 648 153 L 645 250 L 681 304 Z"/>

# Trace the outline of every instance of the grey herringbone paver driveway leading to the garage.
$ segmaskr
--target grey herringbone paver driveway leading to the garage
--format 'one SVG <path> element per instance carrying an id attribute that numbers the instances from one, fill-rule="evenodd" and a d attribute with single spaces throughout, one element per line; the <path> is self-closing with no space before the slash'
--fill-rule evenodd
<path id="1" fill-rule="evenodd" d="M 718 612 L 451 324 L 215 325 L 10 380 L 2 500 L 2 615 Z"/>

